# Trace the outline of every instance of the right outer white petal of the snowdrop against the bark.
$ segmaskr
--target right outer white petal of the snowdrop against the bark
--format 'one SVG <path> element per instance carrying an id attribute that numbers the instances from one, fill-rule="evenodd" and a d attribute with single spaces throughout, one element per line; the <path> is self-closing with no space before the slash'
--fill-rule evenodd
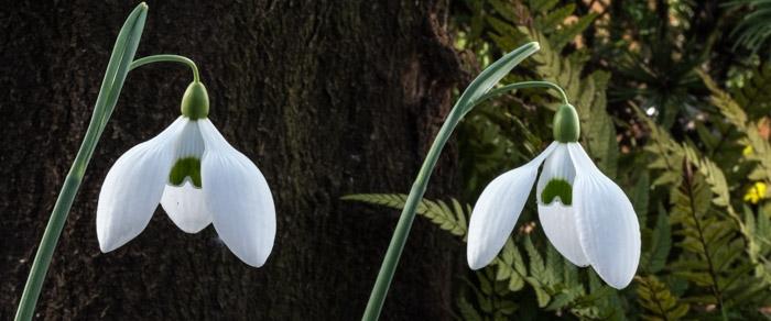
<path id="1" fill-rule="evenodd" d="M 260 267 L 275 239 L 275 207 L 268 182 L 208 119 L 198 122 L 206 144 L 200 178 L 214 228 L 236 256 Z"/>

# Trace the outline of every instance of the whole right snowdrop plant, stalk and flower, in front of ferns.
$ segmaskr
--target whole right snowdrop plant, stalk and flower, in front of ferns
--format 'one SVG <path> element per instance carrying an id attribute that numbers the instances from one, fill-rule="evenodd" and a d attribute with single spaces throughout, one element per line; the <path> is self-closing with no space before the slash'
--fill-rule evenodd
<path id="1" fill-rule="evenodd" d="M 578 143 L 578 115 L 560 86 L 523 81 L 492 89 L 514 66 L 539 49 L 525 44 L 491 64 L 463 92 L 447 115 L 406 198 L 399 223 L 370 295 L 363 320 L 377 320 L 393 278 L 410 226 L 438 155 L 463 117 L 482 101 L 507 91 L 543 87 L 554 89 L 562 106 L 554 118 L 556 142 L 529 164 L 511 170 L 482 192 L 468 230 L 468 263 L 474 269 L 489 264 L 503 247 L 535 182 L 539 213 L 552 244 L 578 266 L 591 265 L 616 288 L 631 280 L 640 258 L 640 228 L 623 191 L 594 165 Z"/>

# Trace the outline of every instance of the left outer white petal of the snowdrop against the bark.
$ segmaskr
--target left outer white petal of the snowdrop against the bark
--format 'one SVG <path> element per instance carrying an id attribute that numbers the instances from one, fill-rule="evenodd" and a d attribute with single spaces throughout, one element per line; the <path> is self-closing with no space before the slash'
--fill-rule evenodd
<path id="1" fill-rule="evenodd" d="M 158 207 L 174 157 L 173 143 L 187 122 L 166 130 L 120 156 L 107 173 L 97 203 L 97 239 L 110 252 L 139 235 Z"/>

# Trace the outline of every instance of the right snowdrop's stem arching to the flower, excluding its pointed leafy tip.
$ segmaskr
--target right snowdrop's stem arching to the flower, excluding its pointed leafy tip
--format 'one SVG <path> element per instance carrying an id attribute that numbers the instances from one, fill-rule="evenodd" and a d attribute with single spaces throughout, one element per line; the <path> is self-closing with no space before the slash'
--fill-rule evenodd
<path id="1" fill-rule="evenodd" d="M 402 251 L 404 250 L 404 244 L 406 243 L 406 237 L 410 233 L 412 222 L 415 219 L 415 209 L 417 208 L 420 201 L 423 199 L 423 195 L 425 193 L 426 187 L 428 185 L 428 178 L 434 171 L 434 167 L 436 166 L 436 162 L 439 158 L 439 153 L 442 153 L 442 148 L 444 148 L 444 145 L 449 140 L 450 135 L 453 134 L 453 131 L 458 125 L 463 117 L 466 115 L 466 113 L 468 113 L 469 111 L 471 111 L 474 107 L 478 106 L 480 102 L 489 98 L 500 96 L 501 93 L 513 89 L 534 87 L 556 89 L 562 95 L 563 101 L 567 103 L 567 96 L 560 86 L 549 81 L 524 81 L 507 85 L 498 89 L 491 90 L 488 93 L 480 96 L 478 99 L 470 101 L 469 103 L 464 103 L 465 100 L 459 99 L 458 102 L 455 104 L 453 110 L 447 115 L 447 119 L 442 125 L 442 129 L 439 130 L 438 134 L 436 135 L 434 143 L 431 145 L 428 154 L 426 155 L 425 160 L 423 162 L 423 166 L 421 166 L 421 170 L 417 173 L 417 177 L 415 178 L 415 181 L 412 185 L 412 189 L 410 190 L 410 195 L 406 198 L 404 208 L 402 209 L 402 213 L 399 218 L 399 223 L 397 223 L 397 229 L 394 230 L 393 236 L 391 237 L 391 243 L 389 244 L 388 252 L 386 253 L 386 257 L 383 258 L 383 263 L 380 267 L 378 279 L 374 283 L 372 294 L 369 297 L 369 302 L 367 303 L 367 309 L 365 310 L 362 320 L 378 320 L 380 316 L 380 311 L 386 300 L 386 295 L 388 294 L 388 288 L 390 287 L 391 280 L 393 279 L 393 274 L 397 269 L 399 258 L 402 254 Z"/>

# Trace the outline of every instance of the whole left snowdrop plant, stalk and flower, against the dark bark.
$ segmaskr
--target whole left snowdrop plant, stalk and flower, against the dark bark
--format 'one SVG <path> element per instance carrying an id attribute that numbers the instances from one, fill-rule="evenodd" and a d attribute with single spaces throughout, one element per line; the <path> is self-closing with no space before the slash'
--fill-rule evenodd
<path id="1" fill-rule="evenodd" d="M 230 251 L 249 265 L 261 266 L 271 252 L 275 209 L 268 184 L 208 120 L 208 93 L 195 63 L 177 55 L 134 60 L 146 15 L 142 2 L 118 33 L 91 121 L 32 262 L 15 320 L 32 320 L 56 243 L 126 77 L 146 64 L 185 64 L 193 70 L 193 82 L 182 99 L 182 115 L 154 139 L 129 150 L 107 174 L 97 206 L 99 246 L 112 251 L 137 236 L 161 203 L 185 232 L 213 223 Z"/>

